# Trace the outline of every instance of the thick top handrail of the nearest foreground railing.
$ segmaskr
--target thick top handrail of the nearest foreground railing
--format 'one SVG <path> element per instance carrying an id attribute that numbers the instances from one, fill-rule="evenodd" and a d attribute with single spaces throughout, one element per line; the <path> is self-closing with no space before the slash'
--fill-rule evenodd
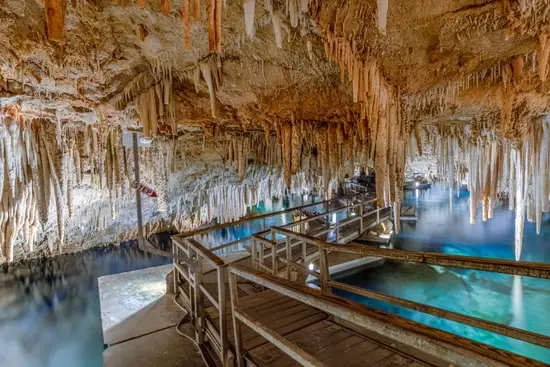
<path id="1" fill-rule="evenodd" d="M 477 354 L 478 357 L 488 357 L 512 366 L 542 366 L 543 364 L 527 357 L 504 351 L 494 350 L 485 344 L 457 336 L 404 317 L 392 315 L 372 307 L 361 305 L 343 297 L 327 294 L 322 291 L 297 284 L 295 282 L 278 278 L 276 276 L 261 273 L 252 268 L 232 264 L 228 267 L 229 282 L 231 291 L 231 303 L 235 309 L 238 294 L 236 294 L 236 276 L 252 281 L 256 284 L 269 288 L 284 296 L 293 298 L 302 303 L 315 307 L 323 312 L 334 315 L 344 321 L 353 323 L 359 327 L 385 335 L 400 343 L 423 350 L 431 355 L 438 355 L 456 363 L 457 360 L 468 358 L 460 350 L 449 348 L 451 344 L 460 349 L 467 349 Z M 235 320 L 234 320 L 235 321 Z M 235 327 L 235 340 L 237 354 L 242 355 L 242 339 L 237 338 L 237 327 Z M 286 350 L 283 352 L 287 353 Z"/>

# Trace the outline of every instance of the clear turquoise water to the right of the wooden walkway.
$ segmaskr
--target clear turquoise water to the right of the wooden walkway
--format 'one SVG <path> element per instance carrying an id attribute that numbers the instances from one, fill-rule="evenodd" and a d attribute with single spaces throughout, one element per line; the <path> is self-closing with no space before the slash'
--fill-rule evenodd
<path id="1" fill-rule="evenodd" d="M 407 203 L 418 205 L 418 222 L 403 223 L 394 247 L 417 250 L 514 259 L 514 213 L 504 208 L 493 219 L 469 224 L 468 193 L 453 195 L 435 186 L 406 192 Z M 540 235 L 526 223 L 521 260 L 550 262 L 550 217 L 544 217 Z M 349 284 L 410 299 L 447 310 L 491 320 L 520 329 L 550 335 L 550 281 L 530 277 L 445 268 L 425 264 L 386 262 L 340 279 Z M 498 334 L 447 321 L 421 312 L 347 292 L 340 294 L 363 304 L 398 314 L 482 343 L 550 363 L 550 350 Z"/>

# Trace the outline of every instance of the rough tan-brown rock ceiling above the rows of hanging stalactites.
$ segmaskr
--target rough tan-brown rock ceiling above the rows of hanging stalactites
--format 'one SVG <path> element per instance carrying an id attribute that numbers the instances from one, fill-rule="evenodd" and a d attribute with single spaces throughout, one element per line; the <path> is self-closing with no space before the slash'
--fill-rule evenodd
<path id="1" fill-rule="evenodd" d="M 376 1 L 312 0 L 304 13 L 304 2 L 295 1 L 298 15 L 288 2 L 256 1 L 253 37 L 243 2 L 224 1 L 221 52 L 209 48 L 207 2 L 198 18 L 190 9 L 186 38 L 182 9 L 189 2 L 0 1 L 2 108 L 30 119 L 132 125 L 139 120 L 135 96 L 169 76 L 180 128 L 341 121 L 360 108 L 349 71 L 341 75 L 326 57 L 327 42 L 340 38 L 356 56 L 377 60 L 410 119 L 460 120 L 498 110 L 515 59 L 522 69 L 512 70 L 518 98 L 534 113 L 547 109 L 536 61 L 548 24 L 542 1 L 529 2 L 527 12 L 512 0 L 389 1 L 383 31 Z M 46 17 L 45 7 L 55 3 L 66 9 L 61 39 L 49 34 Z M 279 9 L 280 48 L 270 9 Z M 220 74 L 215 117 L 197 72 L 208 60 Z"/>

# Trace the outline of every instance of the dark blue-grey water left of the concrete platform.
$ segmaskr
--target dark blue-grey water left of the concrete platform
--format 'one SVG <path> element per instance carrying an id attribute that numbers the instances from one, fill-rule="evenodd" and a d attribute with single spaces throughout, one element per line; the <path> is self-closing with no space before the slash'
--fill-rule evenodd
<path id="1" fill-rule="evenodd" d="M 97 279 L 169 262 L 129 241 L 0 266 L 0 366 L 103 366 Z"/>

